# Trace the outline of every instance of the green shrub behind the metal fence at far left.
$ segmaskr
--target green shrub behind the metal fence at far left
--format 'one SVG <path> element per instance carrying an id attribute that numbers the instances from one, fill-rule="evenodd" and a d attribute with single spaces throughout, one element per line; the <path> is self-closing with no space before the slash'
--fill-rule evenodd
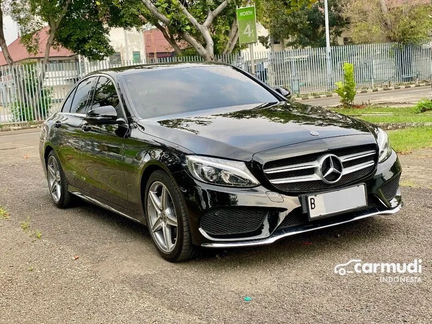
<path id="1" fill-rule="evenodd" d="M 29 122 L 45 119 L 52 103 L 52 88 L 46 86 L 39 88 L 39 71 L 36 64 L 27 63 L 16 68 L 20 69 L 16 75 L 22 93 L 12 104 L 12 121 Z"/>

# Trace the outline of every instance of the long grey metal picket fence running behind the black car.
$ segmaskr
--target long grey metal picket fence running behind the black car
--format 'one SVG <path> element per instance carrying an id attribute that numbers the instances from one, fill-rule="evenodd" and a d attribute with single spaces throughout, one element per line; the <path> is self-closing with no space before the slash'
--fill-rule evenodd
<path id="1" fill-rule="evenodd" d="M 430 80 L 431 44 L 397 43 L 335 46 L 327 71 L 326 48 L 254 53 L 255 74 L 270 86 L 284 86 L 293 93 L 322 93 L 343 80 L 343 63 L 354 64 L 358 87 L 379 87 Z M 217 55 L 216 61 L 251 70 L 249 52 Z M 0 124 L 44 120 L 58 107 L 70 88 L 89 72 L 141 63 L 202 61 L 199 56 L 147 59 L 147 62 L 100 61 L 50 63 L 43 81 L 40 64 L 0 67 Z M 330 82 L 329 82 L 330 81 Z"/>

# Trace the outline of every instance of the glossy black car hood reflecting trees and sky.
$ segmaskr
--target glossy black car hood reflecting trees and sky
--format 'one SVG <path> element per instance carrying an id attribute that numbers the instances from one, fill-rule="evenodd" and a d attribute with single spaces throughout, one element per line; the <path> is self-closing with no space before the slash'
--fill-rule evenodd
<path id="1" fill-rule="evenodd" d="M 253 154 L 316 139 L 372 134 L 362 122 L 287 101 L 140 120 L 143 132 L 196 154 L 250 161 Z"/>

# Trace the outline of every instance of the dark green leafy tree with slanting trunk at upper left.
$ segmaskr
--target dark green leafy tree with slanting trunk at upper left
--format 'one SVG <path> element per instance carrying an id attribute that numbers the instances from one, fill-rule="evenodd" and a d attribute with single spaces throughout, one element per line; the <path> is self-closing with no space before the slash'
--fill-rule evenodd
<path id="1" fill-rule="evenodd" d="M 98 9 L 93 1 L 13 0 L 12 16 L 20 26 L 21 42 L 29 53 L 39 51 L 39 32 L 48 25 L 42 74 L 53 46 L 63 46 L 90 60 L 100 60 L 114 52 L 109 29 L 97 19 Z"/>

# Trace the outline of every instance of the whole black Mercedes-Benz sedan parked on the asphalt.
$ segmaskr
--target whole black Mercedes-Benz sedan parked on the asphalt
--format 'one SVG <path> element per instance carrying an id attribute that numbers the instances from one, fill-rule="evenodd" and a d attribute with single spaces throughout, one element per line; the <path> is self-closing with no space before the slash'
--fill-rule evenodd
<path id="1" fill-rule="evenodd" d="M 42 126 L 51 197 L 147 225 L 169 261 L 397 212 L 386 133 L 289 97 L 219 63 L 90 73 Z"/>

